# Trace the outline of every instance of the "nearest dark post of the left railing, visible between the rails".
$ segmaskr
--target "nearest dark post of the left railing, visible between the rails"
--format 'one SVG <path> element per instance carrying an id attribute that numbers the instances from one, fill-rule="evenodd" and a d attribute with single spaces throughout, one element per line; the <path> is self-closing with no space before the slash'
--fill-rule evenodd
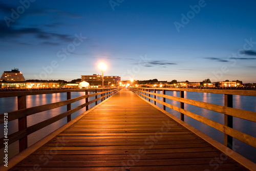
<path id="1" fill-rule="evenodd" d="M 26 109 L 26 95 L 18 96 L 18 110 Z M 27 128 L 27 116 L 18 118 L 18 131 L 22 131 Z M 26 135 L 24 138 L 19 139 L 19 153 L 28 148 L 28 136 Z"/>

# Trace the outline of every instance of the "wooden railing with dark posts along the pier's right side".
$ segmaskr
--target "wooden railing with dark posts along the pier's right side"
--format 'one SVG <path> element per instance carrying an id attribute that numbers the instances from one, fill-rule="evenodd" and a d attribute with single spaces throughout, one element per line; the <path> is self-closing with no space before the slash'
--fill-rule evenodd
<path id="1" fill-rule="evenodd" d="M 243 141 L 253 146 L 254 148 L 256 148 L 255 137 L 232 128 L 233 116 L 256 122 L 256 112 L 232 108 L 233 107 L 232 95 L 256 96 L 256 90 L 219 90 L 219 89 L 189 89 L 189 88 L 130 88 L 130 90 L 133 91 L 135 94 L 143 97 L 144 99 L 147 98 L 148 101 L 150 100 L 154 101 L 155 105 L 156 105 L 156 102 L 162 104 L 164 110 L 165 110 L 165 107 L 168 107 L 170 109 L 174 109 L 180 112 L 180 119 L 183 121 L 184 121 L 184 114 L 185 114 L 191 118 L 194 118 L 200 121 L 201 123 L 204 123 L 212 128 L 215 128 L 223 132 L 224 145 L 228 146 L 230 149 L 232 149 L 232 137 L 240 141 Z M 157 93 L 157 91 L 162 91 L 162 94 Z M 180 91 L 180 97 L 166 95 L 165 94 L 166 91 Z M 200 102 L 196 100 L 184 99 L 184 91 L 224 94 L 224 106 Z M 163 101 L 158 100 L 156 96 L 162 97 Z M 165 102 L 166 99 L 180 102 L 180 107 L 166 103 Z M 206 117 L 200 116 L 196 113 L 185 110 L 184 104 L 194 105 L 200 108 L 223 113 L 224 125 L 216 121 L 210 120 Z"/>

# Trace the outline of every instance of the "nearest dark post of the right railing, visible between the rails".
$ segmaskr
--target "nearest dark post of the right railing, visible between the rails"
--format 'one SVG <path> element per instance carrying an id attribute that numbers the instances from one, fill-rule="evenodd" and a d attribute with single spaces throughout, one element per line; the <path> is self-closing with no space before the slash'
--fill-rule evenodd
<path id="1" fill-rule="evenodd" d="M 233 107 L 233 95 L 232 94 L 224 94 L 224 106 L 225 107 Z M 233 128 L 233 116 L 224 115 L 224 125 L 230 128 Z M 224 145 L 227 146 L 229 149 L 232 149 L 233 137 L 230 135 L 224 134 Z"/>

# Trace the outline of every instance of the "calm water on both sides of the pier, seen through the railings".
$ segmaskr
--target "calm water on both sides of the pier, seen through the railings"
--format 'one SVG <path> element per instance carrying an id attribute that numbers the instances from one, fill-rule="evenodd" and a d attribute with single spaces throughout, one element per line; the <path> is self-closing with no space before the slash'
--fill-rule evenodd
<path id="1" fill-rule="evenodd" d="M 89 92 L 90 93 L 90 92 Z M 158 93 L 162 93 L 161 91 L 158 91 Z M 84 92 L 72 92 L 71 93 L 71 98 L 78 97 L 81 95 L 84 95 Z M 180 96 L 179 91 L 166 91 L 166 94 L 168 95 L 173 95 L 173 96 Z M 38 106 L 38 105 L 44 105 L 44 104 L 49 104 L 49 103 L 54 103 L 54 102 L 60 102 L 64 101 L 67 98 L 67 93 L 55 93 L 55 94 L 42 94 L 42 95 L 29 95 L 27 96 L 27 108 L 33 107 L 33 106 Z M 184 98 L 186 99 L 192 99 L 192 100 L 197 100 L 197 101 L 202 101 L 202 102 L 207 102 L 207 103 L 212 103 L 212 104 L 217 104 L 217 105 L 222 105 L 224 106 L 224 95 L 223 94 L 211 94 L 211 93 L 198 93 L 198 92 L 184 92 Z M 5 112 L 10 112 L 17 110 L 17 97 L 6 97 L 6 98 L 0 98 L 0 113 L 5 113 Z M 161 97 L 158 97 L 159 100 L 162 100 Z M 94 97 L 90 97 L 90 100 L 94 100 Z M 85 99 L 75 102 L 72 104 L 72 108 L 75 108 L 83 103 L 85 103 Z M 100 101 L 98 101 L 99 103 Z M 174 106 L 180 106 L 179 102 L 172 101 L 166 99 L 166 103 L 172 104 Z M 92 108 L 94 104 L 89 105 L 89 109 Z M 157 103 L 157 106 L 162 107 L 161 104 Z M 207 117 L 211 120 L 217 121 L 220 124 L 224 124 L 224 115 L 218 112 L 210 111 L 207 109 L 201 109 L 199 107 L 195 107 L 192 105 L 186 105 L 185 104 L 185 109 L 194 112 L 196 114 L 199 114 L 201 116 Z M 256 111 L 256 97 L 253 96 L 241 96 L 241 95 L 233 95 L 233 108 L 238 108 L 238 109 L 244 109 L 248 111 Z M 63 113 L 67 111 L 67 107 L 59 107 L 56 109 L 52 109 L 49 111 L 45 112 L 40 112 L 31 116 L 27 117 L 28 120 L 28 127 L 31 125 L 34 125 L 36 123 L 39 123 L 42 120 L 51 118 L 53 116 L 56 116 L 60 113 Z M 85 108 L 75 112 L 72 114 L 72 119 L 80 115 L 86 111 Z M 166 111 L 169 113 L 172 113 L 176 117 L 180 117 L 180 113 L 173 110 L 169 109 L 166 107 Z M 200 123 L 199 121 L 187 117 L 186 115 L 184 116 L 185 122 L 188 123 L 189 125 L 197 128 L 201 132 L 207 134 L 208 136 L 216 139 L 217 141 L 223 143 L 224 142 L 224 134 L 214 128 L 211 128 L 205 124 Z M 28 136 L 28 143 L 29 146 L 38 140 L 40 140 L 42 137 L 47 136 L 54 130 L 58 129 L 59 127 L 63 126 L 64 124 L 67 123 L 67 118 L 63 118 L 56 123 L 53 123 L 49 126 L 47 126 L 44 129 L 41 129 L 33 134 L 30 134 Z M 3 127 L 4 125 L 1 125 L 1 130 L 4 130 Z M 249 134 L 251 136 L 256 137 L 256 123 L 253 123 L 248 120 L 240 119 L 240 118 L 233 118 L 233 128 L 237 129 L 239 131 L 242 131 L 246 134 Z M 8 124 L 8 131 L 9 134 L 18 131 L 17 129 L 17 120 L 9 121 Z M 0 137 L 3 137 L 4 133 L 1 131 Z M 236 152 L 242 154 L 243 156 L 247 157 L 248 159 L 252 160 L 253 162 L 256 163 L 256 149 L 252 148 L 250 145 L 247 145 L 237 139 L 233 138 L 233 144 L 236 146 L 239 146 L 236 148 Z M 13 144 L 9 145 L 9 157 L 14 156 L 18 153 L 18 142 L 15 142 Z M 0 150 L 0 157 L 2 158 L 4 155 L 3 149 Z"/>

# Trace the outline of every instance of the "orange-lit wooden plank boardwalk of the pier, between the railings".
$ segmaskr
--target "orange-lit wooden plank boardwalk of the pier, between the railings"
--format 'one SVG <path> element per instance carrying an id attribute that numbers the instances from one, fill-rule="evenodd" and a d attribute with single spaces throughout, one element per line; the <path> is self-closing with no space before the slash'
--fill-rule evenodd
<path id="1" fill-rule="evenodd" d="M 123 89 L 10 170 L 247 170 Z"/>

